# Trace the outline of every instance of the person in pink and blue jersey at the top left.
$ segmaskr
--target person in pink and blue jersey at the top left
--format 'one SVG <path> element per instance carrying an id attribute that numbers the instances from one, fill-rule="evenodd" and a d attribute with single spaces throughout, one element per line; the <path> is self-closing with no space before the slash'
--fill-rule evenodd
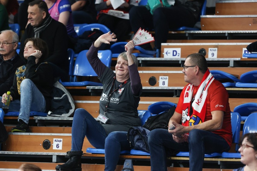
<path id="1" fill-rule="evenodd" d="M 69 36 L 68 48 L 74 49 L 77 33 L 74 30 L 71 5 L 69 0 L 44 0 L 48 7 L 50 16 L 66 26 Z"/>

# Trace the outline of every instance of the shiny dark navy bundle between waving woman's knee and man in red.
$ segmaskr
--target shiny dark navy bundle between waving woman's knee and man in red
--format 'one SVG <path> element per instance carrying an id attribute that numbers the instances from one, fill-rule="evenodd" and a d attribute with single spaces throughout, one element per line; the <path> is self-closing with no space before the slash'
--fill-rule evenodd
<path id="1" fill-rule="evenodd" d="M 142 126 L 132 126 L 128 129 L 128 141 L 133 149 L 149 152 L 148 133 Z"/>

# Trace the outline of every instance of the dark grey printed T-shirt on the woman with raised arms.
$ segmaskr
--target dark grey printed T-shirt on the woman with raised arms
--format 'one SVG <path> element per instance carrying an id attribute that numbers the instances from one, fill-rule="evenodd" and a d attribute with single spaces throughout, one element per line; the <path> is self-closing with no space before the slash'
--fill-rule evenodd
<path id="1" fill-rule="evenodd" d="M 103 75 L 99 78 L 103 84 L 103 93 L 100 98 L 100 114 L 104 114 L 107 98 L 112 91 L 119 87 L 122 82 L 118 82 L 113 70 L 106 67 Z M 113 85 L 113 86 L 112 86 Z M 101 123 L 107 134 L 113 131 L 128 131 L 131 126 L 141 126 L 141 120 L 138 117 L 138 103 L 140 101 L 140 95 L 142 87 L 138 96 L 132 94 L 130 79 L 127 80 L 117 91 L 113 92 L 107 113 L 105 114 L 109 120 L 106 124 Z"/>

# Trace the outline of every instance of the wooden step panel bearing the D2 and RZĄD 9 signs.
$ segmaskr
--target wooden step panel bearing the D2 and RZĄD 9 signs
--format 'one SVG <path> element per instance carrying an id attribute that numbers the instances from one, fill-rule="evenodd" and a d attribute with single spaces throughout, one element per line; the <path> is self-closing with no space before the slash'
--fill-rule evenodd
<path id="1" fill-rule="evenodd" d="M 162 43 L 161 57 L 186 58 L 189 54 L 205 51 L 205 58 L 243 58 L 246 47 L 251 42 L 244 43 Z"/>

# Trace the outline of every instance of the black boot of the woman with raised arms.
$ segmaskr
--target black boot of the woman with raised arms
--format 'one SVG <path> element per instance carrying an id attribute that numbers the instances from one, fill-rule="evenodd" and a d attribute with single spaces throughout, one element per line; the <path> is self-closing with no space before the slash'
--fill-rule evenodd
<path id="1" fill-rule="evenodd" d="M 55 169 L 62 171 L 81 171 L 81 156 L 83 151 L 68 151 L 65 155 L 69 160 L 64 164 L 58 164 Z"/>

